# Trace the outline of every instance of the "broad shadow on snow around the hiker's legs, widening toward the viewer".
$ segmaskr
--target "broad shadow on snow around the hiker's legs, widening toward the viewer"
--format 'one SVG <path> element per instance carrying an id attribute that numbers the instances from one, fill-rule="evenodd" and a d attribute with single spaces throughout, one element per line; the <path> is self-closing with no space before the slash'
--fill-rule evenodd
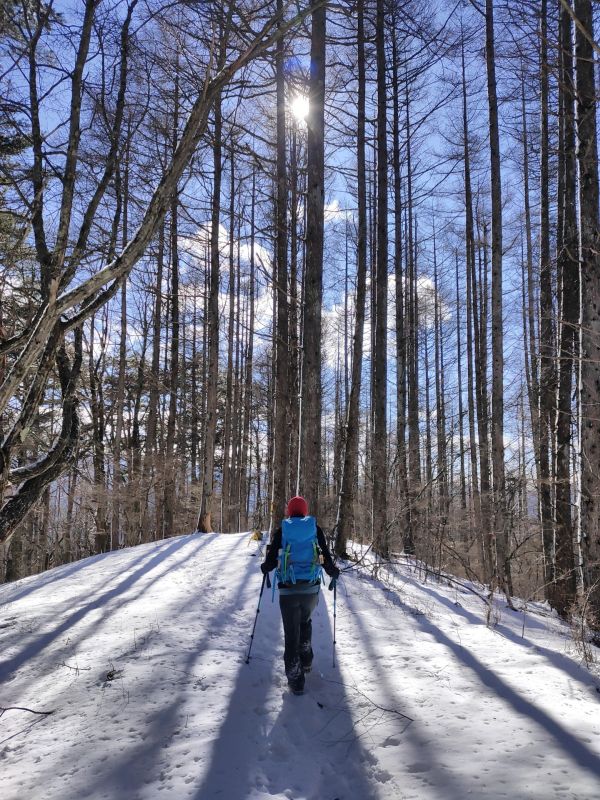
<path id="1" fill-rule="evenodd" d="M 194 800 L 377 796 L 367 775 L 371 757 L 354 729 L 350 699 L 340 683 L 327 680 L 333 676 L 339 681 L 339 673 L 325 666 L 333 637 L 323 594 L 313 614 L 314 669 L 307 675 L 305 694 L 295 696 L 283 670 L 277 592 L 273 603 L 269 593 L 257 625 L 257 657 L 240 666 L 208 772 Z"/>

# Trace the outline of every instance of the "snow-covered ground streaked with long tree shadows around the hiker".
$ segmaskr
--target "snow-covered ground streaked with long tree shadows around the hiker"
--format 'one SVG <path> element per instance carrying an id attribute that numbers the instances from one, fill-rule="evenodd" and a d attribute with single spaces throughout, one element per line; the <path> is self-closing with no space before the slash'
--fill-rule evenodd
<path id="1" fill-rule="evenodd" d="M 270 590 L 245 663 L 259 548 L 180 536 L 0 587 L 3 800 L 600 796 L 597 667 L 543 606 L 496 598 L 488 627 L 410 566 L 349 570 L 336 666 L 323 587 L 298 697 Z"/>

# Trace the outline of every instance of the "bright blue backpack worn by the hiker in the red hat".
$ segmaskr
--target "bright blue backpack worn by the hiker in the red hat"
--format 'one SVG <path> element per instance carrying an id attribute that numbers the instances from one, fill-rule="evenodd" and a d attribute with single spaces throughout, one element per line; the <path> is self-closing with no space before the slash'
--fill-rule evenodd
<path id="1" fill-rule="evenodd" d="M 280 583 L 321 580 L 321 561 L 314 517 L 290 517 L 281 525 L 277 579 Z"/>

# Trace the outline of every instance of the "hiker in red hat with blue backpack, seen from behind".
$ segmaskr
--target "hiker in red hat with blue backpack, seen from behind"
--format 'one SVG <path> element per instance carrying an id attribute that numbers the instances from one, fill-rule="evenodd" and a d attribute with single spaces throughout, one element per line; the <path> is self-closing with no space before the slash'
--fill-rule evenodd
<path id="1" fill-rule="evenodd" d="M 313 660 L 311 615 L 319 602 L 321 569 L 334 580 L 340 574 L 325 534 L 315 518 L 308 515 L 303 497 L 292 497 L 288 502 L 287 518 L 273 534 L 260 569 L 263 575 L 277 569 L 285 674 L 294 694 L 302 694 L 304 675 L 310 672 Z"/>

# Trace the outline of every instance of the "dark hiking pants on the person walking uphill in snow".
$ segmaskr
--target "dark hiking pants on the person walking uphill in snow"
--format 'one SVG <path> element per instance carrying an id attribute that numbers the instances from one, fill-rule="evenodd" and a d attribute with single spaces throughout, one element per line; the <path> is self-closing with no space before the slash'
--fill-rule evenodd
<path id="1" fill-rule="evenodd" d="M 312 664 L 312 612 L 319 602 L 319 593 L 280 594 L 279 607 L 283 620 L 285 650 L 283 660 L 288 681 L 304 686 L 304 669 Z"/>

